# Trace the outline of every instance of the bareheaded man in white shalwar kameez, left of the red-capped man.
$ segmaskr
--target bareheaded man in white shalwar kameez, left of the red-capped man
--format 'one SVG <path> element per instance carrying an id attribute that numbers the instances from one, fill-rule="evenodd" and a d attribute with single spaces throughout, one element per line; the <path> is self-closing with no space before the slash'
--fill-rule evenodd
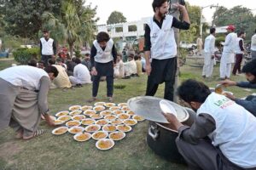
<path id="1" fill-rule="evenodd" d="M 202 71 L 202 77 L 211 77 L 214 65 L 214 48 L 215 48 L 215 28 L 210 29 L 210 35 L 205 39 L 205 60 Z"/>

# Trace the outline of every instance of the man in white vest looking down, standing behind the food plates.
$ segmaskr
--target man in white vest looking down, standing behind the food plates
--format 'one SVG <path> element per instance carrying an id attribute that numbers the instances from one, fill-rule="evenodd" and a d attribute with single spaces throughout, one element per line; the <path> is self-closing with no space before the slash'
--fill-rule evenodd
<path id="1" fill-rule="evenodd" d="M 108 101 L 113 101 L 113 65 L 116 64 L 117 52 L 113 40 L 107 32 L 99 32 L 90 50 L 91 75 L 93 76 L 92 98 L 88 102 L 96 100 L 101 77 L 107 79 Z"/>

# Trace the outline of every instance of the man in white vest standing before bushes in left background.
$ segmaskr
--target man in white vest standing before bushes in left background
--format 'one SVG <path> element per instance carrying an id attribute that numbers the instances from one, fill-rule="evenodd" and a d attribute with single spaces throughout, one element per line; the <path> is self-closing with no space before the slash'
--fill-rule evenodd
<path id="1" fill-rule="evenodd" d="M 54 39 L 49 37 L 49 31 L 44 30 L 44 37 L 40 38 L 40 52 L 41 60 L 44 61 L 44 65 L 48 65 L 48 59 L 55 59 L 57 48 Z"/>

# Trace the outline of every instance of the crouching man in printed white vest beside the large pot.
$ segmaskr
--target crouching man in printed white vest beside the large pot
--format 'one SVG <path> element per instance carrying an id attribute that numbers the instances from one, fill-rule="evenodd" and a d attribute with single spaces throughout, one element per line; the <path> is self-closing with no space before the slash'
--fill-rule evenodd
<path id="1" fill-rule="evenodd" d="M 256 117 L 202 82 L 189 79 L 177 94 L 196 111 L 191 127 L 164 114 L 178 132 L 177 149 L 193 170 L 256 168 Z M 250 134 L 250 136 L 248 136 Z"/>

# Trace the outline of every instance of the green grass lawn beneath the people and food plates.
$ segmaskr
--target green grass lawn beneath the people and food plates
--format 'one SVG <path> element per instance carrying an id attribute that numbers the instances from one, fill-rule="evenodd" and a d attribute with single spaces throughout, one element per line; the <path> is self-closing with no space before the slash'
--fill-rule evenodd
<path id="1" fill-rule="evenodd" d="M 0 60 L 0 70 L 8 67 L 13 61 Z M 214 70 L 211 80 L 201 78 L 201 68 L 183 65 L 181 81 L 196 78 L 206 81 L 214 87 L 218 83 L 218 67 Z M 231 77 L 233 80 L 245 80 L 243 76 Z M 134 77 L 128 80 L 115 80 L 115 84 L 125 84 L 124 89 L 114 89 L 114 102 L 126 102 L 131 97 L 145 94 L 147 77 Z M 163 96 L 164 85 L 160 85 L 156 96 Z M 242 88 L 228 88 L 238 97 L 243 97 L 256 91 L 248 92 Z M 91 85 L 74 88 L 66 92 L 61 89 L 50 90 L 49 109 L 52 115 L 57 111 L 67 110 L 71 105 L 89 105 L 86 99 L 91 96 Z M 106 82 L 101 82 L 98 97 L 107 101 Z M 54 136 L 43 121 L 40 128 L 46 129 L 42 136 L 28 141 L 15 139 L 15 133 L 8 128 L 0 133 L 0 169 L 186 169 L 156 156 L 146 143 L 148 122 L 138 123 L 131 133 L 126 133 L 125 139 L 115 142 L 111 150 L 97 150 L 95 140 L 79 143 L 73 140 L 73 135 L 66 133 Z"/>

